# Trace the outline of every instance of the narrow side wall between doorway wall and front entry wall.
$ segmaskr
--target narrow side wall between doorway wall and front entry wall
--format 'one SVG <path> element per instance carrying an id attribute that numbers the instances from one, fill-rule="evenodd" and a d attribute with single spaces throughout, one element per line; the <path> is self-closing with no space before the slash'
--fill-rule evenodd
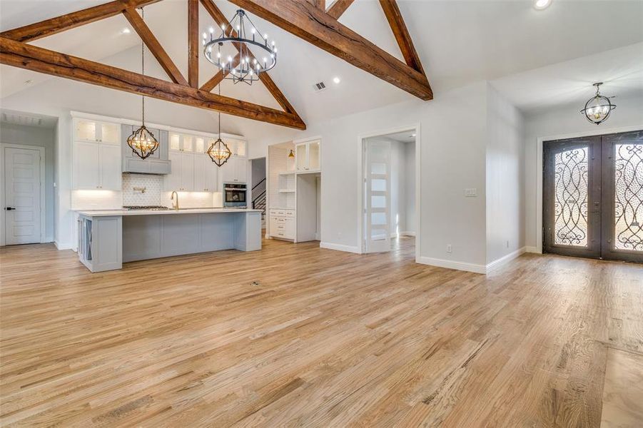
<path id="1" fill-rule="evenodd" d="M 523 118 L 495 88 L 487 93 L 487 264 L 525 247 Z"/>

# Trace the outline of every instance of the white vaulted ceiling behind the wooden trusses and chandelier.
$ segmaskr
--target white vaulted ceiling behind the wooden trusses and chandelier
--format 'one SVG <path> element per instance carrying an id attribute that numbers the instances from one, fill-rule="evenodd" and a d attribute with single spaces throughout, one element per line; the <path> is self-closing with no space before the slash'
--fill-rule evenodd
<path id="1" fill-rule="evenodd" d="M 0 0 L 0 29 L 102 2 Z M 216 4 L 226 16 L 236 9 L 228 1 L 217 0 Z M 548 103 L 589 98 L 595 80 L 606 83 L 606 93 L 619 96 L 641 89 L 643 1 L 553 0 L 545 11 L 535 10 L 531 0 L 398 0 L 398 4 L 436 98 L 450 88 L 485 79 L 519 108 L 531 111 Z M 278 42 L 279 63 L 270 76 L 304 121 L 344 116 L 413 98 L 262 19 L 255 17 L 253 21 Z M 378 1 L 355 1 L 340 21 L 401 58 Z M 185 0 L 147 6 L 146 22 L 186 73 Z M 200 24 L 203 30 L 213 24 L 203 8 Z M 140 44 L 135 33 L 121 34 L 125 26 L 123 16 L 114 16 L 34 44 L 94 60 L 114 58 L 114 54 Z M 583 58 L 590 55 L 594 57 Z M 140 63 L 132 61 L 125 68 L 140 71 Z M 201 83 L 214 72 L 214 67 L 201 58 Z M 50 79 L 8 66 L 0 66 L 0 73 L 2 98 Z M 338 85 L 332 81 L 334 76 L 341 79 Z M 28 80 L 32 82 L 26 85 Z M 318 81 L 325 81 L 329 89 L 315 93 L 313 84 Z M 226 81 L 221 91 L 226 96 L 278 108 L 257 83 L 233 86 Z"/>

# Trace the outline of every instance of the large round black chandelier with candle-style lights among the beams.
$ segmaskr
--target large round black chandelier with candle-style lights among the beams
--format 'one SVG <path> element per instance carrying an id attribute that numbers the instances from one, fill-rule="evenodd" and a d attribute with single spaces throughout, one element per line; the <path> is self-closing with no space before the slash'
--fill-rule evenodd
<path id="1" fill-rule="evenodd" d="M 226 29 L 228 33 L 226 34 Z M 256 46 L 263 55 L 255 58 L 251 46 Z M 233 49 L 238 51 L 232 55 Z M 245 11 L 239 9 L 228 24 L 221 26 L 221 34 L 215 39 L 214 28 L 210 34 L 203 33 L 203 54 L 208 61 L 223 71 L 224 78 L 233 83 L 251 85 L 259 74 L 277 64 L 275 41 L 268 41 L 268 34 L 261 35 Z"/>

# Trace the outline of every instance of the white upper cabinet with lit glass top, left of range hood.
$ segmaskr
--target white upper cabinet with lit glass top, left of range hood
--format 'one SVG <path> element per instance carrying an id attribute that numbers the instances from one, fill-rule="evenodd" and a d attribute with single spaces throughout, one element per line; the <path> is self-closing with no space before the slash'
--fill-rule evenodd
<path id="1" fill-rule="evenodd" d="M 121 126 L 75 118 L 74 138 L 72 187 L 121 190 Z"/>

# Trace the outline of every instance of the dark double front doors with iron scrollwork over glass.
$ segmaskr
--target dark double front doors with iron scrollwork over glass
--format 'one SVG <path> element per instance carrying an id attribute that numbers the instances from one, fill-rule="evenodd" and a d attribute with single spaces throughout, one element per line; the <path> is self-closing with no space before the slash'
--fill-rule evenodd
<path id="1" fill-rule="evenodd" d="M 543 251 L 643 263 L 643 131 L 545 141 Z"/>

